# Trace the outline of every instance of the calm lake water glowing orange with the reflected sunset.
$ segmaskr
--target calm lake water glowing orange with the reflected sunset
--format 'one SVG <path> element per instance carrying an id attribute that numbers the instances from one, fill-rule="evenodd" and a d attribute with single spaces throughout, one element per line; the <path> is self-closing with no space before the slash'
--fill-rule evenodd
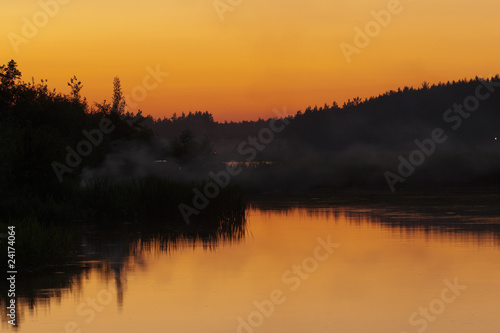
<path id="1" fill-rule="evenodd" d="M 83 268 L 23 282 L 17 331 L 499 332 L 499 222 L 253 205 L 240 238 L 85 239 Z"/>

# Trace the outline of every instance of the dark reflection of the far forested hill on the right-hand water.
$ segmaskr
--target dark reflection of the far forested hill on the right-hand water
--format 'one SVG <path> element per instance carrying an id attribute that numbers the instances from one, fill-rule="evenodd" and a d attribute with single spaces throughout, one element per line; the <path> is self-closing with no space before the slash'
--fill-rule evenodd
<path id="1" fill-rule="evenodd" d="M 435 194 L 426 194 L 435 193 Z M 474 240 L 494 239 L 500 246 L 500 207 L 496 190 L 323 192 L 311 196 L 264 198 L 252 207 L 288 215 L 300 210 L 309 218 L 377 224 L 405 233 L 447 234 Z M 305 209 L 304 209 L 305 208 Z"/>

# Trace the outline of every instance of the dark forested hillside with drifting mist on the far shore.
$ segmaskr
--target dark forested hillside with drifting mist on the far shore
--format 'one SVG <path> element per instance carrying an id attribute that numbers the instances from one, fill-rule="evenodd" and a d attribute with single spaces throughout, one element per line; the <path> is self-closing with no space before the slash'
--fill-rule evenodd
<path id="1" fill-rule="evenodd" d="M 242 175 L 241 184 L 266 190 L 387 185 L 394 189 L 403 183 L 499 185 L 498 75 L 424 82 L 418 88 L 356 97 L 342 106 L 333 102 L 308 107 L 287 120 L 286 129 L 252 159 L 275 163 Z M 144 124 L 167 141 L 190 129 L 210 138 L 222 160 L 249 161 L 245 141 L 272 121 L 221 123 L 197 111 L 163 119 L 148 116 Z M 441 131 L 443 142 L 429 143 L 433 133 Z"/>

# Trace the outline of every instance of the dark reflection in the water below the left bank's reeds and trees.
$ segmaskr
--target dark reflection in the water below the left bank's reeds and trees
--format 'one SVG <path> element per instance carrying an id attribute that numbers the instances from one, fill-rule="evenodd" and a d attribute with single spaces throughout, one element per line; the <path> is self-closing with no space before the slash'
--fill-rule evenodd
<path id="1" fill-rule="evenodd" d="M 93 225 L 82 236 L 78 262 L 64 267 L 49 267 L 46 272 L 33 275 L 18 274 L 16 280 L 17 328 L 27 313 L 50 309 L 53 302 L 60 303 L 69 293 L 79 295 L 82 285 L 90 274 L 99 274 L 111 289 L 116 291 L 118 311 L 126 301 L 127 279 L 133 272 L 145 270 L 145 254 L 150 251 L 173 253 L 184 248 L 202 246 L 215 250 L 221 242 L 237 243 L 245 236 L 245 211 L 228 212 L 213 221 L 197 224 L 165 227 L 164 223 Z M 8 290 L 6 282 L 0 282 L 2 290 Z M 7 328 L 6 293 L 0 295 L 2 326 Z"/>

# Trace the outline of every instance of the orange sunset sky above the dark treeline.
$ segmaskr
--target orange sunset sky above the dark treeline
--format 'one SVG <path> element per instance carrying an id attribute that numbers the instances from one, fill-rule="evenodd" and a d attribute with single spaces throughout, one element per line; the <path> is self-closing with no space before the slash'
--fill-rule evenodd
<path id="1" fill-rule="evenodd" d="M 15 59 L 25 80 L 46 78 L 63 92 L 76 75 L 91 102 L 110 100 L 114 76 L 130 95 L 159 66 L 169 76 L 138 103 L 144 113 L 207 110 L 219 121 L 500 72 L 496 0 L 401 0 L 348 63 L 340 44 L 355 46 L 354 28 L 391 1 L 241 1 L 224 20 L 214 0 L 10 1 L 0 12 L 0 63 Z"/>

